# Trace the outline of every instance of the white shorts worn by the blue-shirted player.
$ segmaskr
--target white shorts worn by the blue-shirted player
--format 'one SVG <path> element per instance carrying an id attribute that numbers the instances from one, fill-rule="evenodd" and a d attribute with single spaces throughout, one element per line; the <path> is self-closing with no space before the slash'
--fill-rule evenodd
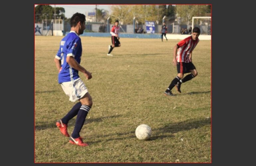
<path id="1" fill-rule="evenodd" d="M 61 87 L 65 94 L 69 96 L 71 102 L 81 99 L 88 92 L 87 87 L 81 78 L 77 78 L 74 81 L 63 82 L 61 83 Z"/>

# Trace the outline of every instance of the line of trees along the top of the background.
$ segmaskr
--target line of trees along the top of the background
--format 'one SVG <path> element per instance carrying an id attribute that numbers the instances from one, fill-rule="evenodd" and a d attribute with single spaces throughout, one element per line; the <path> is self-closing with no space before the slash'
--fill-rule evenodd
<path id="1" fill-rule="evenodd" d="M 69 20 L 65 17 L 65 9 L 61 7 L 52 7 L 50 5 L 38 5 L 35 7 L 35 21 L 56 18 Z M 191 24 L 193 16 L 206 16 L 211 13 L 211 5 L 112 5 L 111 12 L 104 9 L 97 9 L 97 21 L 106 22 L 110 17 L 110 24 L 119 20 L 120 24 L 133 24 L 135 17 L 138 24 L 144 24 L 145 21 L 158 21 L 162 24 L 162 19 L 181 18 L 181 23 Z"/>

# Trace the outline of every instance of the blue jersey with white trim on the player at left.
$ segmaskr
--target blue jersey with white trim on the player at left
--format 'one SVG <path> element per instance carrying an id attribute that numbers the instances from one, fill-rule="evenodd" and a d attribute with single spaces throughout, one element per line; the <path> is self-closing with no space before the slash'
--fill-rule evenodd
<path id="1" fill-rule="evenodd" d="M 82 44 L 80 37 L 74 32 L 70 31 L 60 43 L 60 49 L 55 58 L 61 60 L 61 69 L 59 72 L 59 83 L 73 81 L 79 78 L 78 70 L 69 66 L 66 62 L 67 56 L 73 56 L 80 64 L 82 56 Z"/>

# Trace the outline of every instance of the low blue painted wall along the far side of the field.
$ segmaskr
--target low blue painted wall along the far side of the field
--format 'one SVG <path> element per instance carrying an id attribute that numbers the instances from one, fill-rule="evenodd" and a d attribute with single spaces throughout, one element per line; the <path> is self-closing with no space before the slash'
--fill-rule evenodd
<path id="1" fill-rule="evenodd" d="M 66 32 L 66 35 L 69 32 Z M 110 33 L 96 33 L 96 32 L 84 32 L 80 36 L 89 36 L 89 37 L 110 37 Z M 120 38 L 145 38 L 145 39 L 161 39 L 161 35 L 158 34 L 119 34 Z"/>

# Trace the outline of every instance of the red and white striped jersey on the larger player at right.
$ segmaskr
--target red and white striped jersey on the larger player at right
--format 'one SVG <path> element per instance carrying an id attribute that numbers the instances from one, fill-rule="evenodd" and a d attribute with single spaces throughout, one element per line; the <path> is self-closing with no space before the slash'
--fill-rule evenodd
<path id="1" fill-rule="evenodd" d="M 192 40 L 192 36 L 185 38 L 184 40 L 180 41 L 177 49 L 177 56 L 176 60 L 177 62 L 185 62 L 189 63 L 189 54 L 193 51 L 196 44 L 199 42 L 199 39 L 197 38 L 196 41 Z"/>

